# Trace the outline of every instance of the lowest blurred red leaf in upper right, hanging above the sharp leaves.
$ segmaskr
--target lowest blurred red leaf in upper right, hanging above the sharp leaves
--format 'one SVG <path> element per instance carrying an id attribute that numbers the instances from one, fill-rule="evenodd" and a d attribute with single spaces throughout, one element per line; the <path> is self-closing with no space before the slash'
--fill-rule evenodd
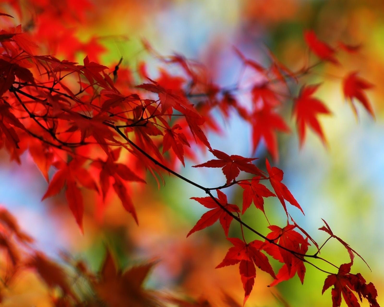
<path id="1" fill-rule="evenodd" d="M 278 160 L 276 131 L 290 132 L 290 128 L 276 112 L 270 108 L 255 111 L 252 116 L 252 141 L 253 151 L 256 150 L 260 140 L 263 138 L 266 149 L 274 160 Z"/>

